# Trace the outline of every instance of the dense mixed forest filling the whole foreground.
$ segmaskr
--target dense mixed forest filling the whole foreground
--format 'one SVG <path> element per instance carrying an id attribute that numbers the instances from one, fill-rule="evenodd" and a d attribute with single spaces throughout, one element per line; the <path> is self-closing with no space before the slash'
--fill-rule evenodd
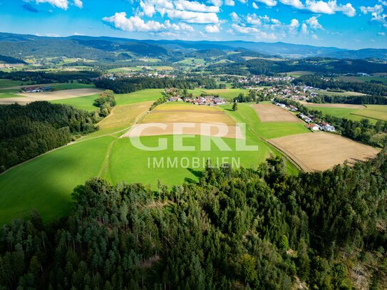
<path id="1" fill-rule="evenodd" d="M 5 226 L 4 289 L 384 289 L 387 152 L 286 173 L 208 167 L 200 183 L 76 187 L 70 217 Z"/>

